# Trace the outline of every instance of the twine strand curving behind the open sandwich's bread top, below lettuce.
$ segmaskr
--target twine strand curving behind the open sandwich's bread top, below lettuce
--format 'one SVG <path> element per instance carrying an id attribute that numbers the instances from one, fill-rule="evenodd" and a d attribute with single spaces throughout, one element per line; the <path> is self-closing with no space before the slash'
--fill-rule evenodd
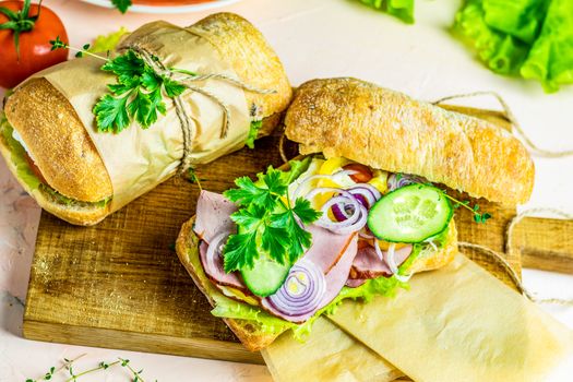
<path id="1" fill-rule="evenodd" d="M 532 152 L 532 154 L 535 154 L 535 155 L 540 156 L 540 157 L 546 157 L 546 158 L 562 158 L 562 157 L 566 157 L 566 156 L 572 156 L 573 155 L 573 150 L 556 152 L 556 151 L 549 151 L 549 150 L 545 150 L 545 148 L 538 147 L 529 139 L 529 136 L 527 136 L 527 134 L 523 130 L 521 123 L 517 121 L 517 118 L 515 118 L 515 115 L 512 112 L 512 110 L 511 110 L 510 106 L 508 105 L 508 103 L 503 99 L 503 97 L 501 95 L 499 95 L 496 92 L 486 91 L 486 92 L 473 92 L 473 93 L 467 93 L 467 94 L 456 94 L 456 95 L 451 95 L 451 96 L 446 96 L 446 97 L 440 98 L 438 100 L 434 100 L 432 104 L 433 105 L 440 105 L 440 104 L 443 104 L 444 102 L 451 100 L 451 99 L 470 98 L 470 97 L 482 96 L 482 95 L 493 96 L 498 100 L 498 103 L 500 104 L 501 108 L 503 109 L 503 111 L 502 111 L 503 116 L 508 119 L 508 121 L 512 126 L 512 132 L 513 132 L 513 130 L 515 130 L 515 132 L 517 132 L 517 134 L 521 136 L 521 139 L 523 140 L 523 142 L 525 143 L 527 148 Z"/>

